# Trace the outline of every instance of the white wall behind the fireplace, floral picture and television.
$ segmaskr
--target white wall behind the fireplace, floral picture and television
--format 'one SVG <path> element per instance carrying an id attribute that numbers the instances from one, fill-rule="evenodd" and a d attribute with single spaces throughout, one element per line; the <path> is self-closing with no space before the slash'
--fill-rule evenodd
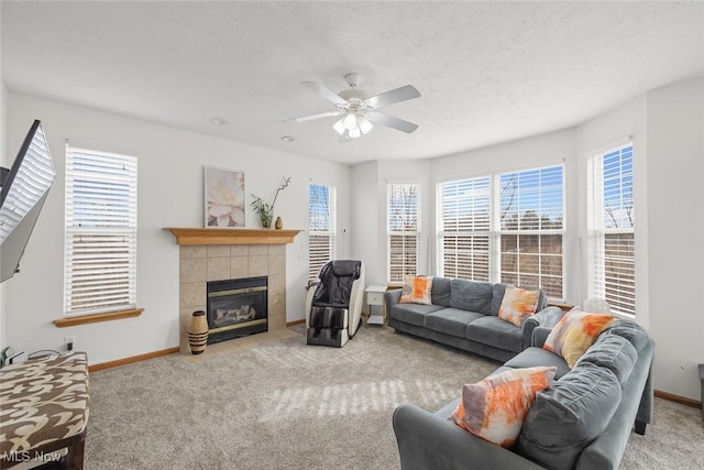
<path id="1" fill-rule="evenodd" d="M 15 94 L 9 94 L 8 118 L 10 149 L 19 147 L 34 119 L 42 120 L 57 171 L 22 271 L 3 283 L 7 343 L 18 350 L 59 349 L 72 335 L 90 362 L 100 363 L 178 346 L 179 251 L 163 228 L 202 227 L 204 165 L 243 171 L 248 200 L 252 193 L 273 197 L 282 178 L 292 176 L 276 203 L 287 229 L 308 227 L 309 179 L 330 182 L 338 188 L 340 227 L 350 227 L 351 170 L 344 165 Z M 138 318 L 63 329 L 52 324 L 63 313 L 66 139 L 139 157 L 138 305 L 145 311 Z M 251 210 L 246 227 L 258 228 Z M 349 238 L 340 238 L 339 250 L 349 255 Z M 287 245 L 287 320 L 304 318 L 307 252 L 306 232 Z"/>

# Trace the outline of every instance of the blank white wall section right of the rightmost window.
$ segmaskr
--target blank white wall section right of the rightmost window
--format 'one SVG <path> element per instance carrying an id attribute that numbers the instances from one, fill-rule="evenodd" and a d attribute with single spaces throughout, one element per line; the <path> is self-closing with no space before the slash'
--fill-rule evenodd
<path id="1" fill-rule="evenodd" d="M 654 385 L 701 400 L 704 79 L 652 90 L 647 100 L 647 273 L 650 335 L 656 341 Z"/>

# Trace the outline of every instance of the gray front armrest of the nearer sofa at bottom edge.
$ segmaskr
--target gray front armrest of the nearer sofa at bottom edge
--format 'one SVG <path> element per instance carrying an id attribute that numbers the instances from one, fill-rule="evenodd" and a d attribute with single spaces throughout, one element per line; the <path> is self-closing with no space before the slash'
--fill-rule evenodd
<path id="1" fill-rule="evenodd" d="M 394 433 L 403 470 L 542 468 L 415 405 L 394 411 Z"/>

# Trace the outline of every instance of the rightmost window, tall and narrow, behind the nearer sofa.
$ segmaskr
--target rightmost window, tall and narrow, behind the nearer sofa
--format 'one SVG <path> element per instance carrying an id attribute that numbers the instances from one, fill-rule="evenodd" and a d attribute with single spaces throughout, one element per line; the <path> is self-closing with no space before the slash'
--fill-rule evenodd
<path id="1" fill-rule="evenodd" d="M 634 147 L 588 160 L 588 296 L 614 311 L 636 314 Z"/>

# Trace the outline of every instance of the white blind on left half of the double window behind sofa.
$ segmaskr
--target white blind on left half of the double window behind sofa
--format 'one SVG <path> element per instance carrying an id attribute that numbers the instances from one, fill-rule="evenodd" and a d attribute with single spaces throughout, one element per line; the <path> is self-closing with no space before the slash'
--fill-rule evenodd
<path id="1" fill-rule="evenodd" d="M 439 185 L 438 272 L 442 276 L 490 280 L 490 177 Z"/>

